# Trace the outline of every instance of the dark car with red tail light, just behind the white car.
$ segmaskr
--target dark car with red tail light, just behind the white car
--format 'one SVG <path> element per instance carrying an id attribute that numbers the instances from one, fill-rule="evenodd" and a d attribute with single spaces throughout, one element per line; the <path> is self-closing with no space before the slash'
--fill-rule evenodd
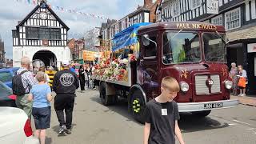
<path id="1" fill-rule="evenodd" d="M 16 107 L 15 104 L 16 95 L 10 87 L 6 86 L 5 83 L 0 82 L 0 106 L 12 106 Z"/>

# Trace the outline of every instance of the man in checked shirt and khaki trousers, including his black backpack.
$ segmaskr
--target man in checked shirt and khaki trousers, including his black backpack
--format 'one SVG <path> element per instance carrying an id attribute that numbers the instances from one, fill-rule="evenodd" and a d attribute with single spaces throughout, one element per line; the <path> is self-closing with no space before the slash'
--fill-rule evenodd
<path id="1" fill-rule="evenodd" d="M 28 118 L 31 119 L 32 113 L 32 102 L 27 100 L 30 94 L 30 89 L 37 82 L 34 79 L 33 73 L 29 71 L 30 69 L 30 58 L 24 56 L 21 59 L 22 67 L 18 69 L 17 75 L 13 78 L 13 92 L 17 95 L 15 103 L 16 106 L 26 112 Z M 21 85 L 22 82 L 22 85 Z"/>

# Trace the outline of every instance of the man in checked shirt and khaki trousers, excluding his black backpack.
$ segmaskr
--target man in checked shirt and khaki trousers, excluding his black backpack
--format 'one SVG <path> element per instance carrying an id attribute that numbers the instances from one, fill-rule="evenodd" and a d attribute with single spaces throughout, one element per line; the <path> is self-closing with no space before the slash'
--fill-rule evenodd
<path id="1" fill-rule="evenodd" d="M 32 113 L 32 102 L 27 100 L 28 95 L 30 94 L 30 89 L 37 82 L 34 79 L 33 73 L 29 71 L 30 69 L 30 58 L 22 57 L 21 59 L 22 67 L 18 69 L 17 74 L 22 75 L 22 85 L 25 88 L 25 94 L 17 95 L 16 97 L 16 106 L 26 112 L 28 117 L 31 119 Z"/>

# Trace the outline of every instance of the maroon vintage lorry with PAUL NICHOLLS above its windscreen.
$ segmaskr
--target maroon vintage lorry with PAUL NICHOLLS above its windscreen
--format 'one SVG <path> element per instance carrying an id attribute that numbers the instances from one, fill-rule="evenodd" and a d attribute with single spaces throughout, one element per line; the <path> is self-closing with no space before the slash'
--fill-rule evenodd
<path id="1" fill-rule="evenodd" d="M 94 74 L 104 105 L 114 104 L 118 97 L 126 98 L 128 110 L 142 122 L 146 102 L 160 94 L 160 84 L 166 76 L 176 78 L 180 84 L 181 90 L 174 99 L 179 112 L 205 117 L 211 110 L 238 105 L 238 99 L 230 99 L 232 81 L 226 66 L 227 38 L 223 26 L 160 22 L 129 29 L 114 36 L 112 48 L 114 53 L 120 46 L 131 45 L 133 40 L 129 38 L 136 38 L 136 60 L 126 62 L 126 73 L 121 75 L 127 78 L 119 81 Z M 116 60 L 111 57 L 110 65 L 113 61 Z M 106 71 L 106 67 L 102 70 Z"/>

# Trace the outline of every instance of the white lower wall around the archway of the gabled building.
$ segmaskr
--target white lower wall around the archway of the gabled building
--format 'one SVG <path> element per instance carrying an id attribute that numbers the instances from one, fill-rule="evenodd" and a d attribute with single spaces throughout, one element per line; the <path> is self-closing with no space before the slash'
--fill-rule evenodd
<path id="1" fill-rule="evenodd" d="M 60 63 L 63 60 L 70 61 L 70 49 L 67 46 L 58 47 L 58 46 L 14 46 L 13 47 L 13 65 L 14 67 L 21 66 L 22 56 L 27 56 L 30 58 L 30 62 L 33 61 L 34 54 L 39 50 L 49 50 L 55 54 L 57 59 L 57 66 L 60 67 Z"/>

